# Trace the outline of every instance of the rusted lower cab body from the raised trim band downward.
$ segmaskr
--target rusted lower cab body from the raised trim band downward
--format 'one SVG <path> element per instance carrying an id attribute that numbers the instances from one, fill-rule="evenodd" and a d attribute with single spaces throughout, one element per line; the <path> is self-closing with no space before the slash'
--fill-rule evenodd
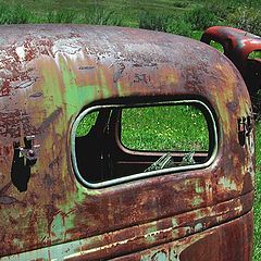
<path id="1" fill-rule="evenodd" d="M 13 254 L 2 260 L 35 260 L 39 257 L 44 260 L 107 260 L 119 256 L 123 256 L 122 260 L 157 260 L 152 257 L 157 256 L 156 252 L 169 252 L 166 245 L 162 244 L 170 241 L 174 241 L 171 244 L 171 251 L 176 251 L 176 259 L 167 253 L 162 260 L 227 260 L 228 257 L 233 257 L 229 260 L 251 260 L 252 211 L 249 212 L 246 207 L 250 206 L 251 197 L 248 195 L 237 200 L 179 214 L 175 219 L 166 217 L 158 222 L 107 233 L 103 236 Z M 246 209 L 243 210 L 243 208 Z M 244 213 L 247 214 L 241 216 Z M 224 223 L 226 220 L 231 222 Z M 228 227 L 229 232 L 224 227 Z M 206 240 L 210 235 L 213 237 L 213 234 L 215 234 L 215 239 Z M 198 247 L 194 246 L 195 243 L 197 243 L 196 246 L 200 244 L 202 249 L 197 249 Z M 227 248 L 226 251 L 224 251 L 224 246 Z M 148 248 L 151 251 L 132 254 Z M 183 251 L 186 253 L 182 253 Z M 197 251 L 201 251 L 201 254 L 195 256 Z"/>

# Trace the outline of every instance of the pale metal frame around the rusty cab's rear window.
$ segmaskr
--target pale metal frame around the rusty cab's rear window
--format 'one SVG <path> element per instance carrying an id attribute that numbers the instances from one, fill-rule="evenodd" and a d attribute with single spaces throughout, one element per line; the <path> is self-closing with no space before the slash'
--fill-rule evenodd
<path id="1" fill-rule="evenodd" d="M 198 103 L 199 105 L 201 105 L 206 112 L 208 113 L 208 117 L 211 121 L 211 126 L 212 126 L 212 130 L 213 130 L 213 148 L 211 150 L 211 156 L 209 157 L 209 159 L 203 162 L 203 163 L 196 163 L 196 164 L 191 164 L 191 165 L 179 165 L 179 166 L 174 166 L 174 167 L 169 167 L 169 169 L 162 169 L 162 170 L 157 170 L 157 171 L 151 171 L 151 172 L 142 172 L 142 173 L 137 173 L 137 174 L 133 174 L 133 175 L 128 175 L 128 176 L 123 176 L 123 177 L 117 177 L 111 181 L 104 181 L 104 182 L 100 182 L 100 183 L 90 183 L 87 182 L 79 173 L 78 170 L 78 165 L 77 165 L 77 159 L 76 159 L 76 148 L 75 148 L 75 140 L 76 140 L 76 130 L 77 127 L 80 123 L 80 121 L 90 112 L 92 111 L 98 111 L 99 109 L 105 109 L 105 108 L 137 108 L 137 107 L 148 107 L 148 105 L 172 105 L 172 104 L 186 104 L 186 103 Z M 206 117 L 207 121 L 207 117 Z M 208 122 L 208 121 L 207 121 Z M 210 142 L 210 141 L 209 141 Z M 113 104 L 98 104 L 98 105 L 92 105 L 89 107 L 87 109 L 85 109 L 84 111 L 82 111 L 77 117 L 75 119 L 73 126 L 72 126 L 72 130 L 71 130 L 71 160 L 72 160 L 72 164 L 73 164 L 73 171 L 75 173 L 75 176 L 77 177 L 77 179 L 86 187 L 88 188 L 92 188 L 92 189 L 99 189 L 99 188 L 104 188 L 104 187 L 109 187 L 109 186 L 115 186 L 119 184 L 123 184 L 123 183 L 128 183 L 128 182 L 133 182 L 133 181 L 137 181 L 137 179 L 144 179 L 144 178 L 148 178 L 148 177 L 153 177 L 153 176 L 160 176 L 160 175 L 166 175 L 166 174 L 174 174 L 177 172 L 184 172 L 184 171 L 192 171 L 192 170 L 202 170 L 202 169 L 207 169 L 208 166 L 210 166 L 216 156 L 217 156 L 217 148 L 219 148 L 219 135 L 217 135 L 217 123 L 215 120 L 215 116 L 212 112 L 212 110 L 209 108 L 209 105 L 206 104 L 206 102 L 201 101 L 201 100 L 197 100 L 197 99 L 189 99 L 189 100 L 174 100 L 174 101 L 152 101 L 152 102 L 137 102 L 137 103 L 113 103 Z M 142 152 L 141 152 L 142 153 Z"/>

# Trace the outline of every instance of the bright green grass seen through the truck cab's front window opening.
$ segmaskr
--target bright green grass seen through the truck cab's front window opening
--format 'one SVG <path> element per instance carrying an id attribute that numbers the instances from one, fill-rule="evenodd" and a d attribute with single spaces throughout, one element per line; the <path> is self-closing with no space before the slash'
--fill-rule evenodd
<path id="1" fill-rule="evenodd" d="M 132 150 L 206 151 L 208 138 L 204 116 L 191 105 L 123 110 L 122 142 Z"/>

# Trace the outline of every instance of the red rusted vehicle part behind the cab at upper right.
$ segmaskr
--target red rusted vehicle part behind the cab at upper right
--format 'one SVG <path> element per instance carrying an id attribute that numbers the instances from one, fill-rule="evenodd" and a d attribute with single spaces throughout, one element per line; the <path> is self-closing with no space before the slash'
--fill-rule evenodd
<path id="1" fill-rule="evenodd" d="M 241 73 L 250 95 L 254 95 L 261 88 L 261 60 L 248 57 L 253 51 L 261 51 L 261 37 L 232 27 L 213 26 L 201 37 L 206 44 L 211 40 L 223 46 L 225 55 Z"/>

